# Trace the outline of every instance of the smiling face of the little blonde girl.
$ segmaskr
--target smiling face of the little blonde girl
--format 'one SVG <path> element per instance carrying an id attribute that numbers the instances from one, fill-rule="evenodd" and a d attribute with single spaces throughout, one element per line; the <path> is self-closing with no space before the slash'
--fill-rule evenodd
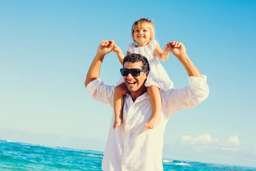
<path id="1" fill-rule="evenodd" d="M 148 43 L 150 40 L 150 30 L 149 28 L 135 28 L 134 29 L 134 39 L 139 44 Z"/>

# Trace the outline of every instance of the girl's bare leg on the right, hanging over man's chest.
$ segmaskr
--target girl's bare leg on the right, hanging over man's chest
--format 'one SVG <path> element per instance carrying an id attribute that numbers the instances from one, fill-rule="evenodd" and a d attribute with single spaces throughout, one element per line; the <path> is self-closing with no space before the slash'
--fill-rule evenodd
<path id="1" fill-rule="evenodd" d="M 161 100 L 160 91 L 158 87 L 149 86 L 146 88 L 150 98 L 153 115 L 152 115 L 152 118 L 147 123 L 145 123 L 144 126 L 147 127 L 148 129 L 154 129 L 160 123 L 162 100 Z"/>

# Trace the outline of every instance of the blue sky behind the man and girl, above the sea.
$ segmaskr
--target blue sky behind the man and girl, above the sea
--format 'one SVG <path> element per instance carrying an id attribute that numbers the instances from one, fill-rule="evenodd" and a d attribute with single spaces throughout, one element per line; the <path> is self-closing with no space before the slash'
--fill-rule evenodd
<path id="1" fill-rule="evenodd" d="M 210 88 L 206 101 L 170 118 L 165 144 L 189 146 L 197 160 L 219 155 L 222 163 L 255 165 L 255 7 L 249 0 L 1 1 L 0 128 L 104 141 L 112 109 L 87 94 L 87 70 L 102 39 L 125 52 L 133 22 L 149 17 L 160 47 L 183 42 Z M 162 64 L 176 88 L 189 85 L 174 56 Z M 116 84 L 120 67 L 108 54 L 100 78 Z M 221 151 L 195 149 L 205 143 Z"/>

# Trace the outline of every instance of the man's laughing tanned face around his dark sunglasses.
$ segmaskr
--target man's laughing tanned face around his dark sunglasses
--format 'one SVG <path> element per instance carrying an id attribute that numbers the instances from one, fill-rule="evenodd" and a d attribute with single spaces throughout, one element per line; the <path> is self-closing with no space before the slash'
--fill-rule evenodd
<path id="1" fill-rule="evenodd" d="M 133 69 L 133 68 L 141 68 L 142 62 L 125 62 L 124 68 L 127 69 Z M 140 88 L 143 88 L 144 82 L 147 79 L 148 71 L 146 73 L 141 72 L 140 76 L 132 76 L 131 73 L 128 74 L 128 76 L 123 76 L 125 80 L 125 85 L 128 88 L 130 92 L 135 92 L 139 90 Z"/>

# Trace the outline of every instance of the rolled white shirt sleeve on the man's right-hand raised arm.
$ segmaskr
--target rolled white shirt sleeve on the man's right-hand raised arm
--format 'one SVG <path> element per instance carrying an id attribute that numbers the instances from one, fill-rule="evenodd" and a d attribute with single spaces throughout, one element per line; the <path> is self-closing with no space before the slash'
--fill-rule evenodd
<path id="1" fill-rule="evenodd" d="M 207 77 L 188 77 L 190 87 L 166 91 L 163 103 L 166 103 L 166 118 L 180 109 L 192 108 L 204 101 L 209 95 Z"/>

